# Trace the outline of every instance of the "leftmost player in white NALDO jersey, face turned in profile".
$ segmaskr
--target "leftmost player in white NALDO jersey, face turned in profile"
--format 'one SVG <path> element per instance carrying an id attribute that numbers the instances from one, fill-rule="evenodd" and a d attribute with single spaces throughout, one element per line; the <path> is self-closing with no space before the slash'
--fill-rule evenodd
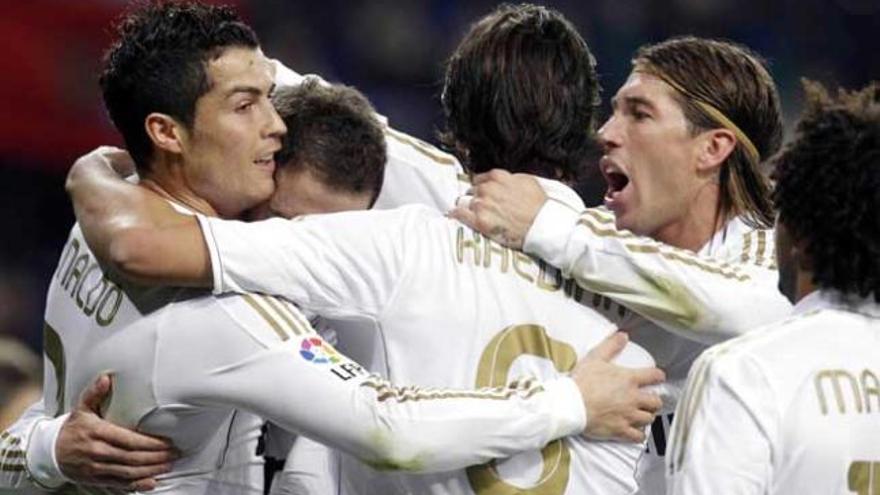
<path id="1" fill-rule="evenodd" d="M 190 214 L 236 217 L 267 199 L 285 127 L 269 101 L 271 65 L 253 32 L 228 9 L 159 4 L 134 12 L 120 35 L 102 88 L 138 165 L 141 185 L 132 187 Z M 60 417 L 3 433 L 4 486 L 27 475 L 65 481 L 54 436 L 34 435 L 43 426 L 63 436 L 63 413 L 108 370 L 115 388 L 102 412 L 172 438 L 182 457 L 162 487 L 181 491 L 262 492 L 254 452 L 261 418 L 414 471 L 537 448 L 584 426 L 584 406 L 567 378 L 403 391 L 336 353 L 285 301 L 121 281 L 78 227 L 50 286 L 45 338 L 44 401 L 31 412 L 42 407 Z M 106 390 L 106 378 L 95 387 Z M 101 484 L 107 480 L 95 472 L 102 468 L 82 474 Z"/>

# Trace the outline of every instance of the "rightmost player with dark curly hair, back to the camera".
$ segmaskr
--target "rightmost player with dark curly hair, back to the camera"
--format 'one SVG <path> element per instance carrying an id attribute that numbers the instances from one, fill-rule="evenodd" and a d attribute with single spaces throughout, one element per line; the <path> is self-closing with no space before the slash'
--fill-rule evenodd
<path id="1" fill-rule="evenodd" d="M 794 314 L 696 361 L 670 493 L 880 490 L 880 85 L 805 89 L 797 135 L 773 159 Z"/>

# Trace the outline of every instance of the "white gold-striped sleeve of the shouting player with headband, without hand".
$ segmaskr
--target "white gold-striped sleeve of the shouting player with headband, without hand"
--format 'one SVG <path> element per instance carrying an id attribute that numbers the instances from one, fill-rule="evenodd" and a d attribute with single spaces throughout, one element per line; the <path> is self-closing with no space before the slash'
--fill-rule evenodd
<path id="1" fill-rule="evenodd" d="M 714 344 L 781 319 L 791 305 L 766 267 L 701 257 L 615 227 L 602 209 L 547 201 L 524 250 L 664 329 Z"/>

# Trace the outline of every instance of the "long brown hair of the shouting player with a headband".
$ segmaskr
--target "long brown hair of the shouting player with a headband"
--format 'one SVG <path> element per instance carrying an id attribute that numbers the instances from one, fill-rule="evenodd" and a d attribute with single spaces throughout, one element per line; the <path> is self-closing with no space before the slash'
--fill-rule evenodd
<path id="1" fill-rule="evenodd" d="M 760 159 L 782 145 L 782 107 L 764 60 L 743 45 L 684 36 L 639 48 L 634 70 L 652 73 L 687 94 L 675 92 L 693 133 L 721 127 L 696 101 L 715 107 L 748 136 Z M 756 227 L 773 223 L 770 183 L 760 163 L 739 144 L 720 171 L 721 211 L 742 215 Z"/>

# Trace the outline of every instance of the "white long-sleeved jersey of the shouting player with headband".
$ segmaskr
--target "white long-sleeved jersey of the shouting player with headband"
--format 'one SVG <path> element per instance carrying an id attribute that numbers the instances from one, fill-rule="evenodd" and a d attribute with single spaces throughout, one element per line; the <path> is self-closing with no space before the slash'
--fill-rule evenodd
<path id="1" fill-rule="evenodd" d="M 618 230 L 604 208 L 580 211 L 547 201 L 539 211 L 524 250 L 632 310 L 622 328 L 666 372 L 668 400 L 639 463 L 640 493 L 665 492 L 672 412 L 697 356 L 791 311 L 777 289 L 773 248 L 772 230 L 750 228 L 739 218 L 694 254 Z"/>

